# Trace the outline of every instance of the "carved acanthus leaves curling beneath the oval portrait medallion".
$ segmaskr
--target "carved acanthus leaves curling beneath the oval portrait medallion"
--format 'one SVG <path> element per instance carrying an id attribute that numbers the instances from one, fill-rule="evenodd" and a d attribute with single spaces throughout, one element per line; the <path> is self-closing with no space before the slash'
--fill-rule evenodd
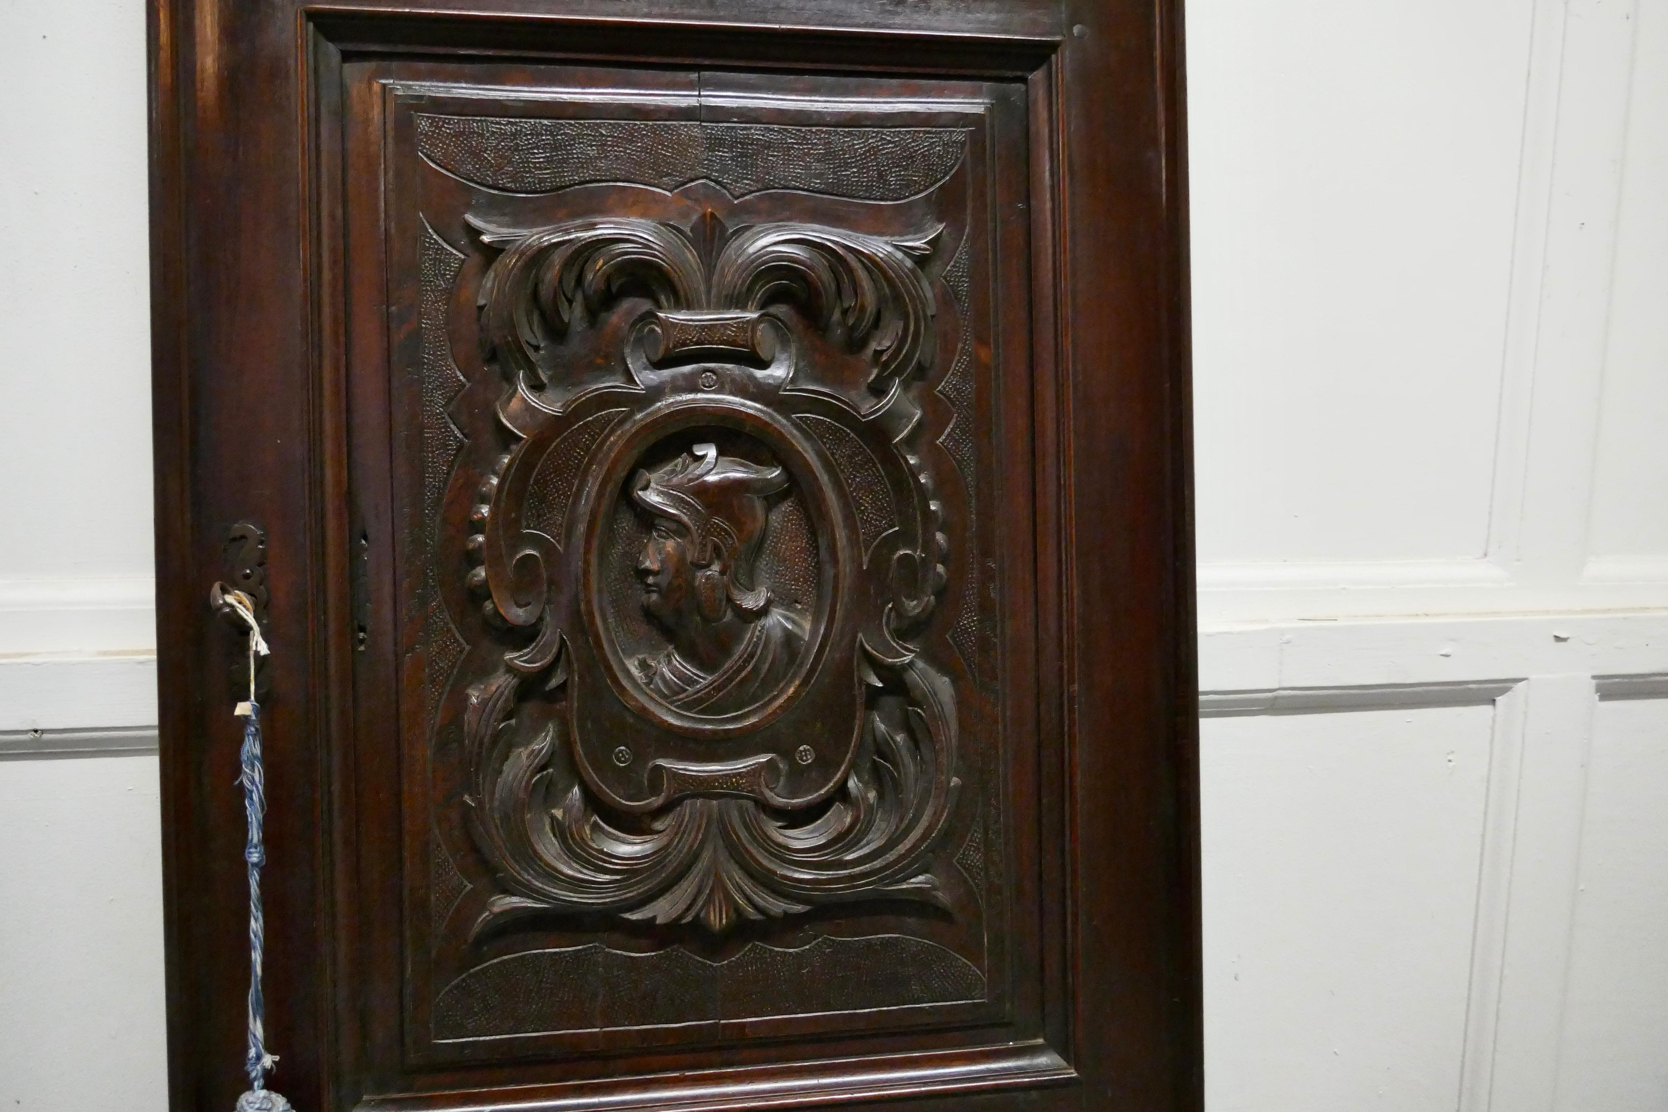
<path id="1" fill-rule="evenodd" d="M 722 932 L 739 919 L 857 899 L 941 902 L 924 850 L 961 789 L 954 695 L 914 657 L 894 667 L 862 652 L 892 714 L 869 717 L 851 774 L 809 817 L 754 799 L 691 795 L 644 829 L 610 822 L 552 760 L 557 725 L 530 740 L 504 739 L 527 677 L 505 669 L 477 684 L 465 724 L 475 769 L 470 827 L 512 899 L 492 902 L 475 930 L 565 910 Z"/>

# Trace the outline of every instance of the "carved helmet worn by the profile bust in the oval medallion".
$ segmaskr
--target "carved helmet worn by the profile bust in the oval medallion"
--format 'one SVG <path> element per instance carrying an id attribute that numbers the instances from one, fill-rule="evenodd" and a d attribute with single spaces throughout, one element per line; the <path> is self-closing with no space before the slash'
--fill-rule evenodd
<path id="1" fill-rule="evenodd" d="M 701 612 L 717 620 L 724 595 L 749 619 L 771 605 L 771 589 L 752 587 L 752 562 L 764 542 L 764 500 L 786 487 L 787 472 L 781 467 L 759 467 L 719 455 L 717 445 L 697 443 L 664 467 L 639 470 L 631 493 L 649 513 L 689 532 L 689 562 L 701 569 Z"/>

